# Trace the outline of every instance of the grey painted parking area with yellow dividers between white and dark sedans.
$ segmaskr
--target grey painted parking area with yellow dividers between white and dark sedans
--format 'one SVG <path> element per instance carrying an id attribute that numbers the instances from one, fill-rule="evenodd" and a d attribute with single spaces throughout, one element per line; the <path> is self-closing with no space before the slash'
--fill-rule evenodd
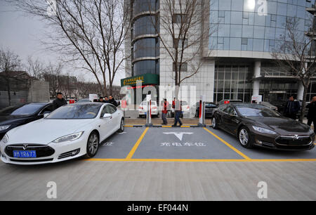
<path id="1" fill-rule="evenodd" d="M 286 162 L 316 161 L 316 150 L 243 148 L 235 136 L 212 128 L 126 127 L 102 143 L 96 161 Z"/>

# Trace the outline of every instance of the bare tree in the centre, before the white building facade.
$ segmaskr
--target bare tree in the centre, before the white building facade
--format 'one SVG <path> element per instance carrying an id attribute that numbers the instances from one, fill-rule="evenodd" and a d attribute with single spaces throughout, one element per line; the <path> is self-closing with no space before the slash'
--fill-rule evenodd
<path id="1" fill-rule="evenodd" d="M 147 4 L 151 13 L 156 13 L 150 1 Z M 162 0 L 160 5 L 157 18 L 151 19 L 152 25 L 163 51 L 173 62 L 175 85 L 180 86 L 185 79 L 197 74 L 204 63 L 203 48 L 214 32 L 212 27 L 205 25 L 209 6 L 204 0 Z"/>

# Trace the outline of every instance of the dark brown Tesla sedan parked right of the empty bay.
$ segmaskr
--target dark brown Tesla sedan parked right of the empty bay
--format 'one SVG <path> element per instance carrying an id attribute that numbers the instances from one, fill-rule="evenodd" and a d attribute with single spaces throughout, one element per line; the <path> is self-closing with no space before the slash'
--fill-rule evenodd
<path id="1" fill-rule="evenodd" d="M 315 147 L 315 133 L 310 126 L 263 105 L 220 105 L 214 112 L 212 127 L 232 133 L 244 148 L 258 145 L 279 150 L 311 150 Z"/>

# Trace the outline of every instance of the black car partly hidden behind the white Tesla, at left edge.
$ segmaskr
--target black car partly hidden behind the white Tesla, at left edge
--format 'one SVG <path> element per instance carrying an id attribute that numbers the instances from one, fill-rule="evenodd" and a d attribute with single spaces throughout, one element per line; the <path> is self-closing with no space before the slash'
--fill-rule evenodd
<path id="1" fill-rule="evenodd" d="M 0 140 L 9 130 L 41 119 L 53 111 L 52 103 L 27 103 L 0 110 Z"/>

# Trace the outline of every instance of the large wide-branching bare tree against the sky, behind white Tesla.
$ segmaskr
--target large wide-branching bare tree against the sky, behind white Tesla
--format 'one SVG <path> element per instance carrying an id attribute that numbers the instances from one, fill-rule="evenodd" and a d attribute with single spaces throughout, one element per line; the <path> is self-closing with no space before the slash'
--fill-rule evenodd
<path id="1" fill-rule="evenodd" d="M 21 11 L 48 22 L 48 47 L 96 77 L 103 95 L 110 93 L 123 66 L 124 39 L 129 26 L 124 0 L 57 0 L 53 13 L 42 0 L 7 0 Z M 54 6 L 54 5 L 53 5 Z M 53 7 L 52 6 L 52 7 Z"/>

